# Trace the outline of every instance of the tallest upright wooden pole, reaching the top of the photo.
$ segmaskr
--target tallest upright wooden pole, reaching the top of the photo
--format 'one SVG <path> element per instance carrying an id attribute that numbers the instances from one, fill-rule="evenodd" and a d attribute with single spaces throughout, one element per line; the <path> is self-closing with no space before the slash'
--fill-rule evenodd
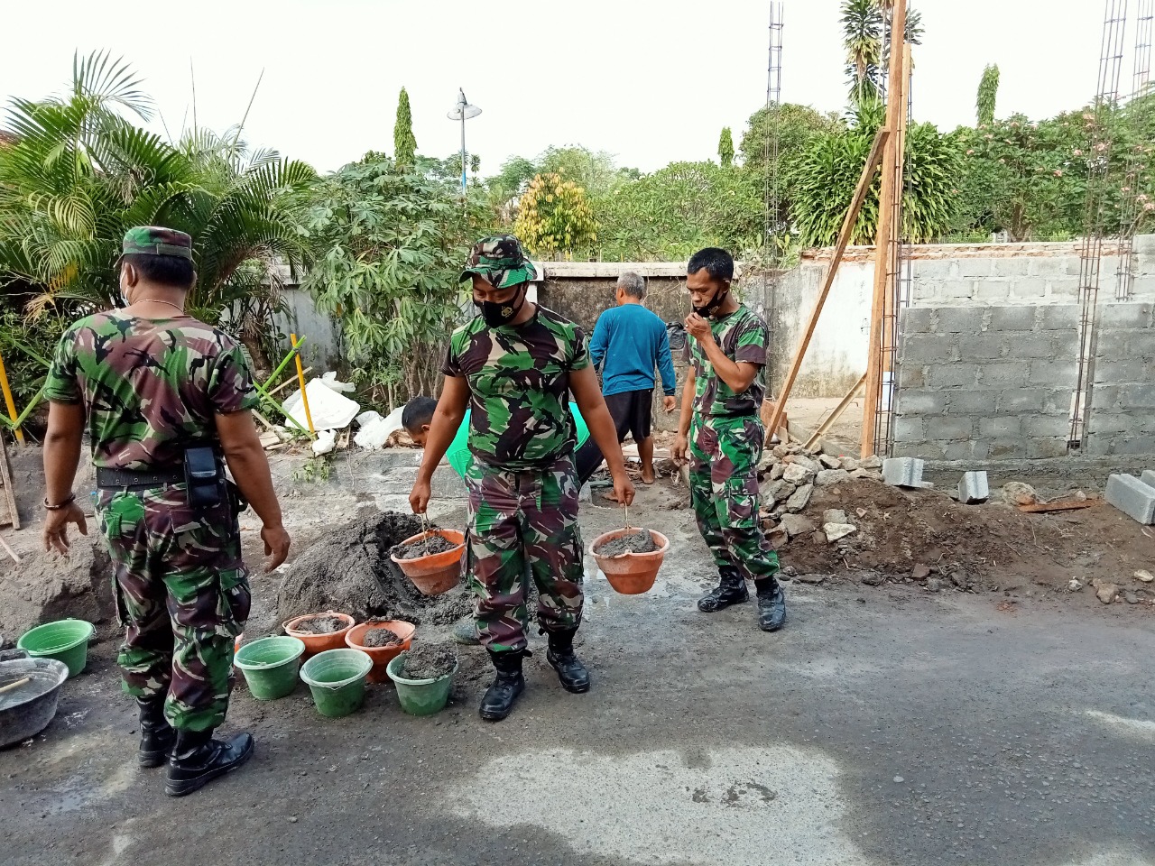
<path id="1" fill-rule="evenodd" d="M 874 423 L 878 417 L 879 382 L 881 381 L 882 328 L 886 315 L 886 291 L 891 285 L 892 247 L 895 237 L 894 211 L 899 167 L 900 112 L 902 98 L 903 46 L 907 32 L 907 0 L 895 0 L 891 18 L 891 79 L 887 85 L 886 129 L 891 133 L 882 154 L 882 185 L 878 196 L 878 236 L 874 240 L 874 296 L 871 303 L 870 348 L 866 357 L 866 394 L 863 400 L 863 458 L 874 453 Z"/>

